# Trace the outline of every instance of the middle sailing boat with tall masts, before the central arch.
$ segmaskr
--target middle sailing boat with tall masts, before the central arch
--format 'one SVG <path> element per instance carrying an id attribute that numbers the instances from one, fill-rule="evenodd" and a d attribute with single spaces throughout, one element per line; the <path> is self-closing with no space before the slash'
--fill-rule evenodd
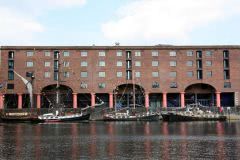
<path id="1" fill-rule="evenodd" d="M 114 92 L 114 99 L 115 99 L 115 111 L 111 113 L 106 113 L 103 115 L 104 121 L 157 121 L 159 120 L 159 114 L 153 112 L 143 112 L 143 113 L 135 113 L 136 110 L 136 94 L 135 94 L 135 83 L 134 83 L 134 76 L 133 76 L 133 105 L 128 104 L 126 107 L 126 112 L 117 111 L 117 104 L 116 104 L 116 92 Z M 129 112 L 130 106 L 133 106 L 133 112 Z"/>

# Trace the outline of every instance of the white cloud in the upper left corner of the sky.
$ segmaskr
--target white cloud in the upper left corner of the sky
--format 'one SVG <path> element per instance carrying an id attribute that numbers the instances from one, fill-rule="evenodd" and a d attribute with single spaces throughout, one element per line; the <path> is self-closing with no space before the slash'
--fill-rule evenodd
<path id="1" fill-rule="evenodd" d="M 38 17 L 49 10 L 82 6 L 86 0 L 0 0 L 0 45 L 31 44 L 47 26 Z"/>

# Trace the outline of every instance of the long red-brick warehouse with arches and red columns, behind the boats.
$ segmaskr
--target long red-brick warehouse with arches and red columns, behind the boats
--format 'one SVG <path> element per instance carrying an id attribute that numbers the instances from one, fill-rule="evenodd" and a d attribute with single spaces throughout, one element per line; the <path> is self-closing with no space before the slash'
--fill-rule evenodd
<path id="1" fill-rule="evenodd" d="M 98 98 L 110 108 L 131 104 L 133 86 L 136 104 L 146 108 L 238 106 L 239 52 L 240 46 L 2 46 L 0 108 L 29 107 L 13 70 L 32 81 L 35 108 L 49 107 L 58 79 L 69 108 Z"/>

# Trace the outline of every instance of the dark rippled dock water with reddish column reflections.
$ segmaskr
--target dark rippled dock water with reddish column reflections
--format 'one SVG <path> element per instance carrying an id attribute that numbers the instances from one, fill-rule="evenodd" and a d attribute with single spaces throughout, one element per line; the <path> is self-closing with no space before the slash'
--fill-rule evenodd
<path id="1" fill-rule="evenodd" d="M 0 159 L 240 159 L 240 122 L 1 124 Z"/>

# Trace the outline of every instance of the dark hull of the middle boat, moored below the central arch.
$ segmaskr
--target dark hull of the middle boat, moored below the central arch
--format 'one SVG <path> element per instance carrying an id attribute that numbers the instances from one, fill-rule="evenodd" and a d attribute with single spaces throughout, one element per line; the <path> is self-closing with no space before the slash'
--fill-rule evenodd
<path id="1" fill-rule="evenodd" d="M 146 115 L 146 116 L 134 116 L 134 117 L 109 117 L 104 116 L 104 121 L 158 121 L 159 115 Z"/>

